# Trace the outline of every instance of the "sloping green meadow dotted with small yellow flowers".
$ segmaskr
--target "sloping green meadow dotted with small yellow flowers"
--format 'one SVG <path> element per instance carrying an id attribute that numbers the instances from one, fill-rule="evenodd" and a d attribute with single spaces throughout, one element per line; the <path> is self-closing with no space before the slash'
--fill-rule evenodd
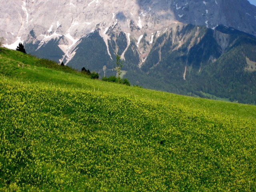
<path id="1" fill-rule="evenodd" d="M 0 191 L 255 191 L 255 122 L 0 50 Z"/>

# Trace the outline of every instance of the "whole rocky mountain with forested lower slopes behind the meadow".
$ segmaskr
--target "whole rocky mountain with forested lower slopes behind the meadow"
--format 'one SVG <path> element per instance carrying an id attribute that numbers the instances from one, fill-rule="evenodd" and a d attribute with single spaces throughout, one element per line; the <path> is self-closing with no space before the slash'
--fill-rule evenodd
<path id="1" fill-rule="evenodd" d="M 219 60 L 225 60 L 223 57 L 235 48 L 244 57 L 239 70 L 249 73 L 250 78 L 255 75 L 256 59 L 249 55 L 255 48 L 256 7 L 247 0 L 0 3 L 0 36 L 6 39 L 6 47 L 14 49 L 23 42 L 28 53 L 78 70 L 85 67 L 101 76 L 113 75 L 115 55 L 120 54 L 125 60 L 123 74 L 134 84 L 181 94 L 207 93 L 240 102 L 245 102 L 238 99 L 241 96 L 231 98 L 228 93 L 203 89 L 207 80 L 201 82 L 200 78 L 214 79 L 210 66 L 220 66 Z M 243 46 L 238 44 L 241 41 L 245 41 Z M 252 50 L 242 52 L 247 46 Z M 248 91 L 246 98 L 252 96 Z"/>

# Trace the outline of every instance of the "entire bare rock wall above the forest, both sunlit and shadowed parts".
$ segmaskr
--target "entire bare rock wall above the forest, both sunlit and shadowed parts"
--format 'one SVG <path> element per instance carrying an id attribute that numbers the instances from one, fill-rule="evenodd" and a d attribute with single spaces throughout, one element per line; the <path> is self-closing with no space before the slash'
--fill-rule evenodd
<path id="1" fill-rule="evenodd" d="M 31 30 L 34 30 L 36 38 L 40 40 L 41 46 L 42 42 L 47 42 L 54 37 L 63 36 L 67 42 L 59 44 L 59 46 L 65 54 L 70 50 L 70 46 L 74 45 L 78 39 L 86 36 L 98 27 L 102 29 L 102 34 L 100 35 L 104 38 L 104 31 L 116 22 L 121 24 L 122 31 L 126 33 L 131 33 L 130 23 L 133 22 L 137 30 L 133 30 L 132 32 L 137 40 L 144 32 L 148 35 L 152 32 L 155 33 L 176 21 L 194 25 L 206 25 L 209 28 L 223 24 L 236 29 L 240 28 L 239 30 L 244 30 L 255 35 L 256 7 L 252 6 L 246 0 L 238 1 L 239 3 L 236 4 L 236 7 L 232 4 L 230 6 L 234 8 L 226 9 L 237 12 L 240 11 L 241 8 L 239 6 L 241 6 L 242 11 L 240 12 L 245 15 L 240 15 L 236 18 L 233 17 L 230 20 L 227 10 L 220 10 L 221 8 L 225 9 L 228 2 L 218 0 L 202 2 L 188 2 L 188 0 L 134 0 L 128 3 L 126 0 L 114 2 L 101 2 L 99 0 L 61 0 L 59 2 L 19 0 L 14 3 L 2 0 L 3 10 L 1 11 L 4 14 L 1 25 L 4 28 L 0 31 L 0 34 L 6 37 L 6 46 L 9 47 L 11 43 L 17 42 L 18 40 L 28 41 L 26 34 L 29 34 Z M 8 10 L 10 7 L 13 8 L 12 12 L 15 13 L 12 16 L 9 14 L 11 11 Z M 195 11 L 195 7 L 198 10 L 197 12 Z M 223 14 L 221 14 L 222 12 Z M 190 20 L 183 18 L 186 14 Z M 61 15 L 64 15 L 64 17 L 61 17 Z M 180 17 L 179 15 L 184 16 Z M 15 21 L 14 24 L 13 21 L 8 22 L 10 17 Z M 196 21 L 191 20 L 194 17 L 198 19 Z M 52 20 L 52 18 L 54 19 Z M 248 18 L 250 18 L 250 21 L 247 22 Z M 240 22 L 241 19 L 243 22 Z M 18 24 L 19 20 L 20 24 Z M 217 23 L 217 21 L 220 23 Z M 232 21 L 236 21 L 235 26 Z M 106 46 L 108 46 L 107 43 Z"/>

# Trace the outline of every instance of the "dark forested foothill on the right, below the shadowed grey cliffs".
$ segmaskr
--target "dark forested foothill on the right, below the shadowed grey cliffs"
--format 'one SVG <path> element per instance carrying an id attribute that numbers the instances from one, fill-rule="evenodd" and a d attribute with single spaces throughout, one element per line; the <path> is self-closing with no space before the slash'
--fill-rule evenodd
<path id="1" fill-rule="evenodd" d="M 226 26 L 212 30 L 186 24 L 177 28 L 156 40 L 140 69 L 125 66 L 132 84 L 190 96 L 256 103 L 254 36 Z"/>

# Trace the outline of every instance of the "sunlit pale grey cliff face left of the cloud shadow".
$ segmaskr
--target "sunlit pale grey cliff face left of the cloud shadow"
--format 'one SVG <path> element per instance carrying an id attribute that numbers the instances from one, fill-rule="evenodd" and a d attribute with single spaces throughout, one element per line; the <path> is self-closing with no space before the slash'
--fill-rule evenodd
<path id="1" fill-rule="evenodd" d="M 158 6 L 153 12 L 150 6 L 154 5 L 148 4 L 148 10 L 143 12 L 136 0 L 1 0 L 0 34 L 8 45 L 18 39 L 26 41 L 31 30 L 37 40 L 66 36 L 73 44 L 96 28 L 103 33 L 118 22 L 126 32 L 131 32 L 132 23 L 138 28 L 132 30 L 133 34 L 138 36 L 142 28 L 154 31 L 174 21 L 174 14 L 161 18 L 162 14 L 170 14 L 166 9 L 170 2 L 163 2 L 163 9 Z"/>

